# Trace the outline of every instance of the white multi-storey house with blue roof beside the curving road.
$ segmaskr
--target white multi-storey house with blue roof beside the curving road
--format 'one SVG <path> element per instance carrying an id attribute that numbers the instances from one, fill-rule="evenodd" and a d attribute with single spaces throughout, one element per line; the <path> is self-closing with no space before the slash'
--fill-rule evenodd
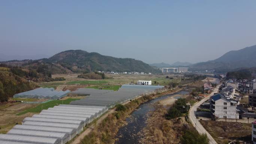
<path id="1" fill-rule="evenodd" d="M 223 93 L 218 93 L 210 97 L 210 110 L 215 118 L 239 119 L 237 105 L 239 105 L 239 101 Z"/>

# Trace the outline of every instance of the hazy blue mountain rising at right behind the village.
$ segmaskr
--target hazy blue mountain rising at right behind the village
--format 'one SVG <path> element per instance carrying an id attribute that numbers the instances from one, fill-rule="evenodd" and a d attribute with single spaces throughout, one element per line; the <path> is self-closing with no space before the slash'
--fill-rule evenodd
<path id="1" fill-rule="evenodd" d="M 236 68 L 256 67 L 256 45 L 240 50 L 232 50 L 217 59 L 193 64 L 190 70 L 215 70 L 227 72 Z"/>

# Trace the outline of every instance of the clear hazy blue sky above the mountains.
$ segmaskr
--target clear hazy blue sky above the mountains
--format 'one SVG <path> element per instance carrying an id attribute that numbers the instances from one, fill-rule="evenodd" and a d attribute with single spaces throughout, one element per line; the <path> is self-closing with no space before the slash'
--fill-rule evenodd
<path id="1" fill-rule="evenodd" d="M 255 7 L 255 0 L 1 0 L 0 53 L 82 49 L 149 64 L 208 61 L 256 45 Z"/>

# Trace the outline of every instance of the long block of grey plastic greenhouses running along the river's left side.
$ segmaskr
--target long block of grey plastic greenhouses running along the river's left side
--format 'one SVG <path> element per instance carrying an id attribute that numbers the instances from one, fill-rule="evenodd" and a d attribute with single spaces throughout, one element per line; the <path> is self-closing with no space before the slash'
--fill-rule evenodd
<path id="1" fill-rule="evenodd" d="M 119 91 L 78 89 L 74 94 L 88 95 L 85 99 L 60 104 L 25 117 L 7 134 L 0 134 L 0 144 L 65 144 L 93 120 L 115 104 L 126 102 L 141 94 L 150 94 L 160 86 L 122 86 Z"/>

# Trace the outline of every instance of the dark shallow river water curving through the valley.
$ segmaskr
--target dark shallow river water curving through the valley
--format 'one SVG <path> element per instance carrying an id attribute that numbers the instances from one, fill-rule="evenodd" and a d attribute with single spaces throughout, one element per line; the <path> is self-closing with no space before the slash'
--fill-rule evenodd
<path id="1" fill-rule="evenodd" d="M 127 125 L 119 129 L 118 134 L 116 136 L 118 140 L 115 142 L 115 144 L 138 144 L 138 140 L 140 140 L 141 138 L 141 135 L 139 135 L 138 133 L 141 132 L 141 130 L 147 125 L 147 115 L 149 114 L 150 111 L 155 110 L 153 104 L 162 99 L 166 99 L 177 94 L 186 95 L 188 93 L 188 91 L 179 91 L 174 94 L 160 96 L 158 98 L 152 99 L 141 104 L 138 107 L 138 109 L 133 111 L 130 117 L 126 119 Z M 178 97 L 179 96 L 176 96 L 175 98 Z"/>

